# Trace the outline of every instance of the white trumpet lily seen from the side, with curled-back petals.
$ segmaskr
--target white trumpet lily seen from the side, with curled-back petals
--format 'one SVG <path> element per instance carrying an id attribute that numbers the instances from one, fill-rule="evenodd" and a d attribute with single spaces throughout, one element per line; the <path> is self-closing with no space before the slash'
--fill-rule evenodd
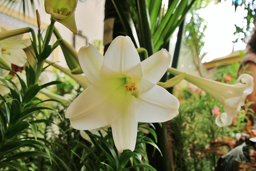
<path id="1" fill-rule="evenodd" d="M 174 68 L 168 68 L 167 71 L 174 75 L 183 73 Z M 222 113 L 222 119 L 221 116 L 217 117 L 216 124 L 218 126 L 230 125 L 233 117 L 236 117 L 237 115 L 237 110 L 240 110 L 241 106 L 244 105 L 247 95 L 251 94 L 253 91 L 253 77 L 249 74 L 242 74 L 237 79 L 236 84 L 221 83 L 193 76 L 188 73 L 186 73 L 184 79 L 206 91 L 223 105 L 223 109 L 227 113 L 227 116 L 225 113 Z"/>

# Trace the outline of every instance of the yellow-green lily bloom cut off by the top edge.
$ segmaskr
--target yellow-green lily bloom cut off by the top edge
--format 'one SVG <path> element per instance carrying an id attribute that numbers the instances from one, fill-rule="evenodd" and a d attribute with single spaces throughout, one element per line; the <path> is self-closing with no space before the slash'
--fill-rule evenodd
<path id="1" fill-rule="evenodd" d="M 78 34 L 74 14 L 76 7 L 77 0 L 45 0 L 45 12 L 74 34 Z"/>

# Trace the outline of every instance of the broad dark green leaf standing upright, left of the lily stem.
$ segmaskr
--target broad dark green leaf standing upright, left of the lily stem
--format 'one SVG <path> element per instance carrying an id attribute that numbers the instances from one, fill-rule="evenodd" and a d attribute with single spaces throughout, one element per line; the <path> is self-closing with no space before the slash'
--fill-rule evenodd
<path id="1" fill-rule="evenodd" d="M 16 99 L 12 100 L 11 110 L 10 110 L 10 125 L 15 124 L 20 118 L 21 107 L 20 102 Z"/>

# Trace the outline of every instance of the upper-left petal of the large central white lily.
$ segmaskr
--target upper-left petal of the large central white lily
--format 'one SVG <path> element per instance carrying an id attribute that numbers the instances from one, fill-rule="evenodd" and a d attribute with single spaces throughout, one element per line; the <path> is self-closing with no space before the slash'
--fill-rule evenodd
<path id="1" fill-rule="evenodd" d="M 91 83 L 100 79 L 103 56 L 93 45 L 89 44 L 88 47 L 82 47 L 78 51 L 78 60 L 84 74 Z"/>

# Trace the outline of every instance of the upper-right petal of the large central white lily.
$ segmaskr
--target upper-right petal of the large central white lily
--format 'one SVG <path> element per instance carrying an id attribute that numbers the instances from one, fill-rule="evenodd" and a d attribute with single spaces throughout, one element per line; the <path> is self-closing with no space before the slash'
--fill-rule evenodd
<path id="1" fill-rule="evenodd" d="M 141 62 L 143 78 L 156 84 L 164 75 L 171 62 L 171 55 L 162 49 Z"/>

